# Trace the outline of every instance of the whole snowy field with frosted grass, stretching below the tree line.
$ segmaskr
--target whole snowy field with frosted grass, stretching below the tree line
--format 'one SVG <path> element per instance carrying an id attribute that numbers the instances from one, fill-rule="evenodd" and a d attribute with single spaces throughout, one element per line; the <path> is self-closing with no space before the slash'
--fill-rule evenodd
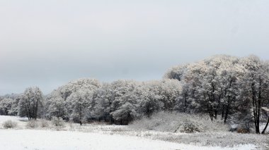
<path id="1" fill-rule="evenodd" d="M 100 125 L 98 123 L 80 126 L 76 123 L 64 123 L 63 127 L 27 127 L 27 119 L 0 116 L 0 124 L 6 120 L 18 123 L 17 127 L 5 130 L 1 126 L 1 149 L 266 149 L 266 136 L 261 136 L 260 144 L 254 141 L 258 135 L 241 135 L 236 133 L 199 133 L 185 134 L 158 131 L 134 130 L 131 126 Z M 40 120 L 38 120 L 40 122 Z M 37 122 L 37 123 L 38 123 Z M 211 137 L 211 139 L 210 139 Z M 223 146 L 214 142 L 227 139 L 247 139 L 233 146 Z M 195 142 L 195 140 L 197 142 Z M 71 142 L 70 142 L 71 141 Z M 212 145 L 212 146 L 211 146 Z M 219 145 L 219 146 L 218 146 Z"/>

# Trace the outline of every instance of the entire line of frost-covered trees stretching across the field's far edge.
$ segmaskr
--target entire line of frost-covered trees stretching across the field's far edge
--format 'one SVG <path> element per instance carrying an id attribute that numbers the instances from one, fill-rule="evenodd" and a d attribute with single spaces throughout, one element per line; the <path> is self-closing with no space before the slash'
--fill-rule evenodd
<path id="1" fill-rule="evenodd" d="M 47 95 L 38 87 L 1 96 L 1 115 L 52 117 L 127 125 L 158 111 L 205 113 L 212 121 L 236 123 L 264 133 L 269 123 L 269 65 L 256 56 L 213 56 L 169 69 L 164 79 L 102 83 L 84 78 Z M 260 131 L 261 123 L 267 123 Z"/>

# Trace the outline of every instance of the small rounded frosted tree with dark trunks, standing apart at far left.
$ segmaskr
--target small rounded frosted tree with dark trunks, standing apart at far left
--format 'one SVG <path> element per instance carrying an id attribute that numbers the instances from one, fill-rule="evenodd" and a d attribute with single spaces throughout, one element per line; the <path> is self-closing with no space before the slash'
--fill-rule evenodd
<path id="1" fill-rule="evenodd" d="M 27 116 L 29 120 L 36 120 L 40 113 L 42 100 L 42 92 L 38 87 L 28 87 L 18 103 L 18 114 L 21 117 Z"/>

